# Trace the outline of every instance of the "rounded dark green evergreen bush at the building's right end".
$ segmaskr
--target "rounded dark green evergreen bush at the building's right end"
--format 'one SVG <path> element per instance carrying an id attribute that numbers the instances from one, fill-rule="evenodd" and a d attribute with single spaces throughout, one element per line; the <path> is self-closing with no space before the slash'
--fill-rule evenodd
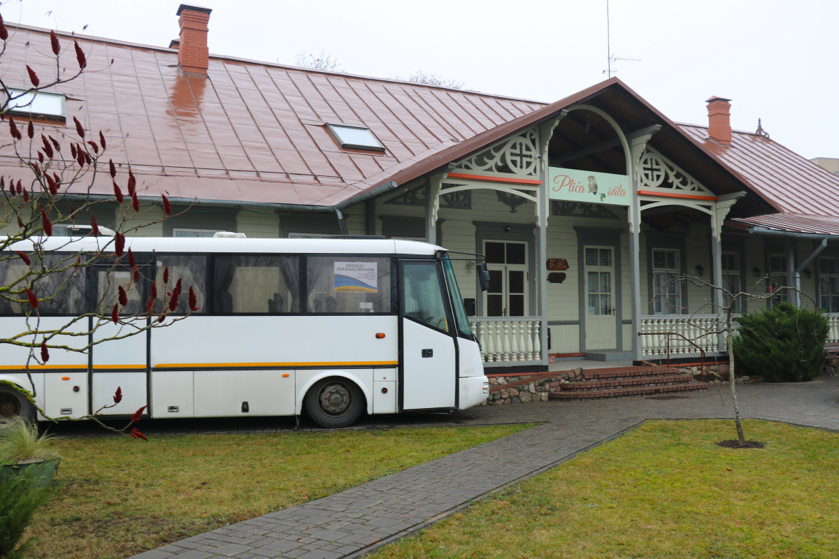
<path id="1" fill-rule="evenodd" d="M 825 362 L 827 318 L 821 311 L 776 303 L 737 318 L 733 339 L 738 370 L 772 382 L 812 380 Z"/>

